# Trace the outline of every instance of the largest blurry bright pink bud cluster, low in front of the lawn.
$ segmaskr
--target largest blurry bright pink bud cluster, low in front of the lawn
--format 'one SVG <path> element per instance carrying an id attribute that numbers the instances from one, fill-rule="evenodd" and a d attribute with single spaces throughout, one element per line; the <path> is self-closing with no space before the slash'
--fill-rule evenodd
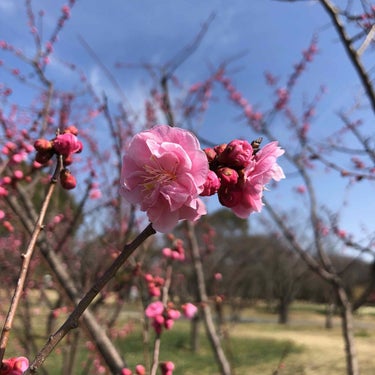
<path id="1" fill-rule="evenodd" d="M 161 301 L 151 302 L 145 310 L 147 318 L 152 320 L 155 332 L 160 335 L 163 328 L 171 329 L 174 321 L 179 319 L 181 313 L 169 304 L 166 308 Z"/>

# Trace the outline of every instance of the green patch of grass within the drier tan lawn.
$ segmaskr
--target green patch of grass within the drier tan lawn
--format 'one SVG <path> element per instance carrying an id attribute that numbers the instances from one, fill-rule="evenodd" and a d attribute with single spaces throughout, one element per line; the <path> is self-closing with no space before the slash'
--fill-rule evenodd
<path id="1" fill-rule="evenodd" d="M 243 327 L 248 330 L 248 325 Z M 152 339 L 151 339 L 152 341 Z M 193 353 L 189 344 L 189 323 L 181 321 L 172 330 L 162 335 L 160 360 L 173 361 L 176 365 L 174 375 L 219 374 L 211 347 L 203 327 L 200 332 L 200 344 Z M 152 342 L 150 343 L 152 348 Z M 284 353 L 299 353 L 302 348 L 290 340 L 272 340 L 270 338 L 230 337 L 223 340 L 224 349 L 236 374 L 247 374 L 249 369 L 267 363 L 269 374 L 276 368 Z M 144 363 L 141 334 L 132 333 L 121 342 L 130 368 Z"/>

